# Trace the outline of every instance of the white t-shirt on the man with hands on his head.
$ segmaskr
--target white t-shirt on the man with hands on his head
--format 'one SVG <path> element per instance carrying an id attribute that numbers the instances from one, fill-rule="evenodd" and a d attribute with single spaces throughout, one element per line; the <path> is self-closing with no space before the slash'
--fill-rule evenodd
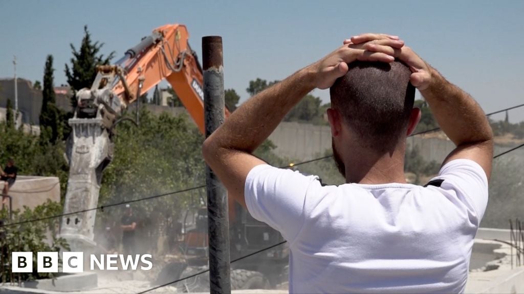
<path id="1" fill-rule="evenodd" d="M 289 243 L 291 293 L 459 293 L 488 200 L 481 166 L 445 164 L 440 187 L 322 186 L 258 165 L 245 184 L 252 216 Z"/>

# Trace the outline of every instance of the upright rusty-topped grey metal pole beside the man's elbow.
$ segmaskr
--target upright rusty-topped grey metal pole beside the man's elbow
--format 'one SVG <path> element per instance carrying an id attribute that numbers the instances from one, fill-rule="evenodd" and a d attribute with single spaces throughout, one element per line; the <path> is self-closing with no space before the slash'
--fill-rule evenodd
<path id="1" fill-rule="evenodd" d="M 205 137 L 224 122 L 222 37 L 202 38 Z M 231 293 L 227 191 L 206 165 L 208 194 L 209 284 L 211 293 Z"/>

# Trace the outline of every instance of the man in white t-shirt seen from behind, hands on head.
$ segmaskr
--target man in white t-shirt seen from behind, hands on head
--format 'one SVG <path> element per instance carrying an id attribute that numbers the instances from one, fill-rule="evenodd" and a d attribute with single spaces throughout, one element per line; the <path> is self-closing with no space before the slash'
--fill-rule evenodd
<path id="1" fill-rule="evenodd" d="M 330 88 L 343 185 L 253 155 L 315 88 Z M 403 171 L 420 119 L 415 88 L 456 145 L 427 186 L 407 184 Z M 291 293 L 457 293 L 487 205 L 492 137 L 475 100 L 403 41 L 364 34 L 247 100 L 203 154 L 229 197 L 288 241 Z"/>

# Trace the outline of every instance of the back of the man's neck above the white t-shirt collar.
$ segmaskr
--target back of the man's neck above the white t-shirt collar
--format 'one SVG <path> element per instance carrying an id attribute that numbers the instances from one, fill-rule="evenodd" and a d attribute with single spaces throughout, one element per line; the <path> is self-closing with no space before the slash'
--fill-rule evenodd
<path id="1" fill-rule="evenodd" d="M 406 183 L 405 146 L 400 146 L 392 153 L 387 152 L 381 155 L 376 155 L 366 149 L 356 148 L 354 150 L 353 156 L 348 156 L 344 160 L 346 183 Z"/>

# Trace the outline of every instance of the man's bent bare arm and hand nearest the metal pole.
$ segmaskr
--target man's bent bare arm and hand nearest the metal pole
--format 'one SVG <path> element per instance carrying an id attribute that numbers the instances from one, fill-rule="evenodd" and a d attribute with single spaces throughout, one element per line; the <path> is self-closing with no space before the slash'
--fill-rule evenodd
<path id="1" fill-rule="evenodd" d="M 244 185 L 249 171 L 263 161 L 253 151 L 283 117 L 315 87 L 329 88 L 354 60 L 394 61 L 394 48 L 403 42 L 387 35 L 370 35 L 367 43 L 345 44 L 320 61 L 250 98 L 208 139 L 204 160 L 220 178 L 230 197 L 245 206 Z"/>

